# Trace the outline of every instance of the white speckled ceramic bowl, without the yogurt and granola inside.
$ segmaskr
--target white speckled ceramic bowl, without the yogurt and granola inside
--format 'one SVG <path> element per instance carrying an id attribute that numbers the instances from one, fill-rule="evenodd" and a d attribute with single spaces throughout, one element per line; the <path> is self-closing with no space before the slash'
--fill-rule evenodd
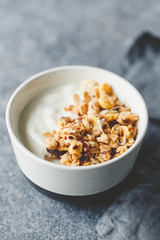
<path id="1" fill-rule="evenodd" d="M 107 81 L 120 100 L 139 116 L 138 136 L 134 145 L 113 160 L 80 167 L 54 164 L 31 153 L 23 145 L 18 133 L 19 115 L 26 104 L 50 87 L 85 79 Z M 51 192 L 82 196 L 105 191 L 129 174 L 147 130 L 148 113 L 140 93 L 122 77 L 99 68 L 67 66 L 41 72 L 21 84 L 9 100 L 6 123 L 18 165 L 27 178 Z"/>

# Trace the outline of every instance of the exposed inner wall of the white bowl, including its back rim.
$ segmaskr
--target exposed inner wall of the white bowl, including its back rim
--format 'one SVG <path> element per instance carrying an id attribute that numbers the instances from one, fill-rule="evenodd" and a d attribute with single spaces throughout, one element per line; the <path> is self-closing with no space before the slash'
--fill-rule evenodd
<path id="1" fill-rule="evenodd" d="M 148 121 L 145 103 L 139 92 L 120 76 L 106 70 L 71 66 L 51 69 L 33 76 L 25 81 L 12 95 L 9 106 L 9 121 L 15 136 L 19 139 L 19 116 L 26 104 L 40 92 L 51 87 L 65 83 L 80 83 L 86 79 L 93 79 L 99 83 L 108 82 L 114 89 L 118 98 L 131 108 L 131 111 L 139 116 L 138 136 L 136 141 L 143 138 Z M 56 104 L 56 103 L 55 103 Z"/>

